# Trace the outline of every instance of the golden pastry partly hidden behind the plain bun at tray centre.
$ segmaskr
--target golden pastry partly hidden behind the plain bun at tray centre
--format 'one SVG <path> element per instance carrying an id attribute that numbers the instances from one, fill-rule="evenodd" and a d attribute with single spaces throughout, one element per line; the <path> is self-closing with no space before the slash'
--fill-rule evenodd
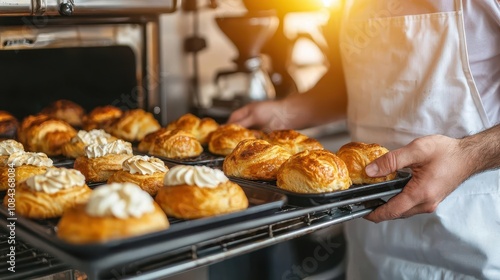
<path id="1" fill-rule="evenodd" d="M 180 129 L 190 132 L 201 144 L 206 144 L 208 135 L 218 127 L 219 124 L 212 118 L 200 119 L 193 114 L 186 114 L 169 123 L 167 129 Z"/>

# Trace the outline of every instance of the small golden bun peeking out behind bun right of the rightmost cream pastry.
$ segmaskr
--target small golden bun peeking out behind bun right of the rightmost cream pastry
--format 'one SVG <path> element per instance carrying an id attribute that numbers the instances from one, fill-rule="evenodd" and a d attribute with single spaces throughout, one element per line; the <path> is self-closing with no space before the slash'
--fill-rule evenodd
<path id="1" fill-rule="evenodd" d="M 221 125 L 210 134 L 208 150 L 216 155 L 229 155 L 245 139 L 256 139 L 255 134 L 238 124 Z"/>

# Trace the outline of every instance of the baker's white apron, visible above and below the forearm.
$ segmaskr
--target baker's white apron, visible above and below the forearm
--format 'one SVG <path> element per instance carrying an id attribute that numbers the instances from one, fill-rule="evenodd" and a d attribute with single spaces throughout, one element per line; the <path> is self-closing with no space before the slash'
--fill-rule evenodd
<path id="1" fill-rule="evenodd" d="M 424 135 L 462 137 L 491 126 L 470 72 L 461 1 L 454 11 L 395 17 L 394 1 L 378 13 L 351 10 L 352 2 L 340 47 L 354 141 L 394 149 Z M 346 223 L 348 278 L 500 279 L 499 189 L 499 171 L 490 171 L 432 214 Z"/>

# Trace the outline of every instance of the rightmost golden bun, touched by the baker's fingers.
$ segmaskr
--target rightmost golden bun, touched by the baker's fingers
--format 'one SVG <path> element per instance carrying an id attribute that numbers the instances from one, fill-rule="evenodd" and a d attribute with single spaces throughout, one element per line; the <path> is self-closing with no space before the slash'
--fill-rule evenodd
<path id="1" fill-rule="evenodd" d="M 384 177 L 366 175 L 365 167 L 387 152 L 389 150 L 379 144 L 351 142 L 340 147 L 337 155 L 346 163 L 353 184 L 374 184 L 396 178 L 396 172 Z"/>

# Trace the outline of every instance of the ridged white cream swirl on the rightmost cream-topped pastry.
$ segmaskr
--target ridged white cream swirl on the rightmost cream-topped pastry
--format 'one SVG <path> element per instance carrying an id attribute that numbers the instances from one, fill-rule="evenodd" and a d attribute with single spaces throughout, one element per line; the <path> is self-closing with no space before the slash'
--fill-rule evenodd
<path id="1" fill-rule="evenodd" d="M 165 175 L 166 186 L 190 185 L 202 188 L 216 188 L 229 181 L 224 172 L 207 166 L 177 165 Z"/>

